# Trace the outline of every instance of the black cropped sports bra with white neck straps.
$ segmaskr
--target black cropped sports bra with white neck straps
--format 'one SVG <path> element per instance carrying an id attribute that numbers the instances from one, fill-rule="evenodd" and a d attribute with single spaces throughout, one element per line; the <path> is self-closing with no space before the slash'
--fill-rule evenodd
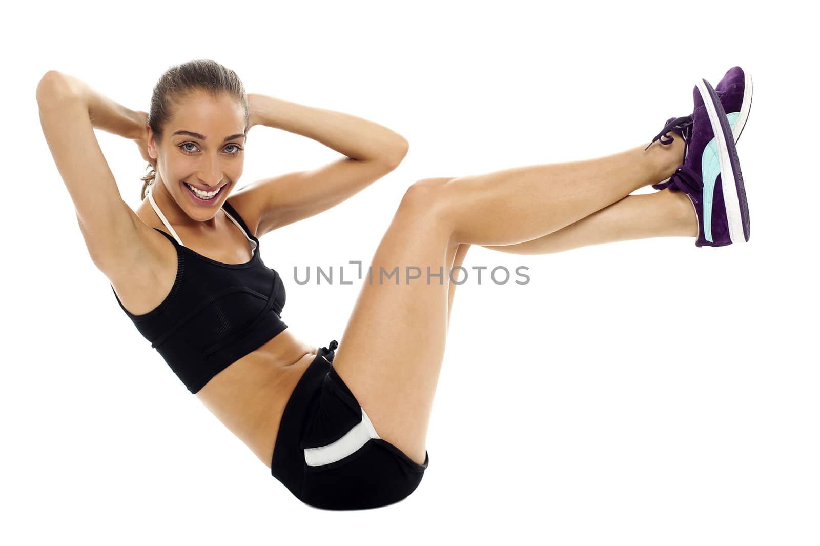
<path id="1" fill-rule="evenodd" d="M 281 321 L 285 286 L 279 273 L 262 262 L 259 239 L 229 202 L 223 209 L 252 243 L 249 262 L 216 262 L 185 247 L 151 193 L 148 198 L 174 235 L 154 228 L 176 248 L 174 285 L 162 303 L 143 315 L 128 312 L 116 291 L 114 297 L 139 333 L 196 394 L 214 375 L 288 327 Z"/>

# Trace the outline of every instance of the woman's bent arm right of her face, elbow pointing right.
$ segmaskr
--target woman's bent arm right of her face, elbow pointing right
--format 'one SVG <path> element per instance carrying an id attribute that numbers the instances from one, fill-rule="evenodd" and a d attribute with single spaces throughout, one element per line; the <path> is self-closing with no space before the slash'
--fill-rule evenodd
<path id="1" fill-rule="evenodd" d="M 301 134 L 343 154 L 313 171 L 258 180 L 237 192 L 258 219 L 261 237 L 282 225 L 326 211 L 393 171 L 408 152 L 408 141 L 383 125 L 339 111 L 248 93 L 249 125 Z M 241 197 L 240 197 L 241 195 Z"/>

